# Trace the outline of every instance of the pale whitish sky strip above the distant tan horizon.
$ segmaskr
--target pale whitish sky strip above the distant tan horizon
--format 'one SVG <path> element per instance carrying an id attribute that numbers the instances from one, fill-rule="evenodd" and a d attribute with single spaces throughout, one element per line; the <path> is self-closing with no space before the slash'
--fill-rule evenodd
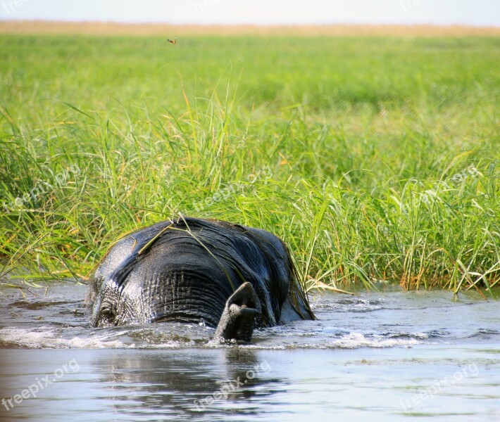
<path id="1" fill-rule="evenodd" d="M 500 0 L 0 0 L 0 20 L 500 26 Z"/>

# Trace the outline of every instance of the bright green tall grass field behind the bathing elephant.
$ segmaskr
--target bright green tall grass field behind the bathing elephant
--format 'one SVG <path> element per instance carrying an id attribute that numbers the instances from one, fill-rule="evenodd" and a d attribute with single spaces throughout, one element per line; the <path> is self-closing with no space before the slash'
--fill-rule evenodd
<path id="1" fill-rule="evenodd" d="M 0 58 L 4 283 L 80 279 L 182 213 L 281 236 L 307 288 L 499 284 L 497 38 L 2 35 Z"/>

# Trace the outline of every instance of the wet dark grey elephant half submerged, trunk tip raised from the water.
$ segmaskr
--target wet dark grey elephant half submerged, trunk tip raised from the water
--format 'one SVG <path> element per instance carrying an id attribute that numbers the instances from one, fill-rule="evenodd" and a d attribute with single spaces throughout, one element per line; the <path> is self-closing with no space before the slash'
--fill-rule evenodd
<path id="1" fill-rule="evenodd" d="M 215 340 L 249 342 L 255 326 L 315 319 L 279 238 L 187 217 L 118 241 L 87 302 L 92 326 L 204 321 L 216 327 Z"/>

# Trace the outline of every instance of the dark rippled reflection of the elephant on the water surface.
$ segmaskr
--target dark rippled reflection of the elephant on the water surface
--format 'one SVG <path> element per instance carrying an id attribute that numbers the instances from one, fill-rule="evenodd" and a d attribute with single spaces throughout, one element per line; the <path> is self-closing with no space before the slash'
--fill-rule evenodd
<path id="1" fill-rule="evenodd" d="M 131 414 L 257 414 L 258 399 L 283 391 L 265 359 L 254 350 L 135 351 L 106 354 L 91 371 L 112 394 L 113 409 Z"/>

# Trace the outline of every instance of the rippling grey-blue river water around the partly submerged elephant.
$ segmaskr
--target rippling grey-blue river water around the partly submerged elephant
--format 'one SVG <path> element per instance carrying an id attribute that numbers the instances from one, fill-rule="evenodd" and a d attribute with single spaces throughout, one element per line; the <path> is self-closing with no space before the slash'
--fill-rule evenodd
<path id="1" fill-rule="evenodd" d="M 477 293 L 315 295 L 319 321 L 246 346 L 89 328 L 84 297 L 0 290 L 1 421 L 500 421 L 500 307 Z"/>

